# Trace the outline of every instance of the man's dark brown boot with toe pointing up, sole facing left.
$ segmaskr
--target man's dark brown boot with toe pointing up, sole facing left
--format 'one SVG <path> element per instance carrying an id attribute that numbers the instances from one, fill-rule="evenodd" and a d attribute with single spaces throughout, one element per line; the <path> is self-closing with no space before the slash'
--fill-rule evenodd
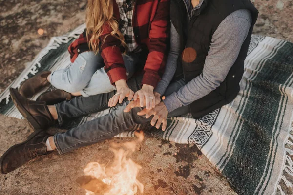
<path id="1" fill-rule="evenodd" d="M 21 96 L 13 88 L 10 88 L 10 96 L 14 105 L 35 129 L 47 129 L 54 124 L 54 118 L 50 114 L 46 102 L 32 101 Z"/>

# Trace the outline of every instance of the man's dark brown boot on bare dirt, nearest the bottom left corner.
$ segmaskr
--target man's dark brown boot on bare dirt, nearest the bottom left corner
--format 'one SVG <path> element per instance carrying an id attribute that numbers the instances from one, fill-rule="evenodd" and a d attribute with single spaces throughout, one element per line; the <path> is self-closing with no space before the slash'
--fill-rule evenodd
<path id="1" fill-rule="evenodd" d="M 37 156 L 47 155 L 46 140 L 50 137 L 43 130 L 34 131 L 26 141 L 9 148 L 0 158 L 0 171 L 8 174 Z"/>

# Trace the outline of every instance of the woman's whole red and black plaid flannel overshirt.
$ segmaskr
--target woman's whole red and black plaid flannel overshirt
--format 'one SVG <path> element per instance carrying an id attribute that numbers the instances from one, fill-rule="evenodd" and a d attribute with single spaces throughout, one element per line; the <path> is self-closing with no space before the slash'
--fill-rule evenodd
<path id="1" fill-rule="evenodd" d="M 113 1 L 114 13 L 119 21 L 119 8 L 116 1 Z M 156 87 L 164 73 L 169 42 L 169 8 L 170 0 L 136 1 L 132 19 L 135 39 L 143 50 L 149 52 L 144 66 L 142 84 Z M 111 31 L 109 25 L 105 24 L 99 39 L 103 40 Z M 77 58 L 79 53 L 89 50 L 85 35 L 84 32 L 69 46 L 71 62 Z M 112 84 L 120 79 L 127 80 L 120 44 L 119 39 L 109 35 L 100 47 L 105 62 L 105 72 Z"/>

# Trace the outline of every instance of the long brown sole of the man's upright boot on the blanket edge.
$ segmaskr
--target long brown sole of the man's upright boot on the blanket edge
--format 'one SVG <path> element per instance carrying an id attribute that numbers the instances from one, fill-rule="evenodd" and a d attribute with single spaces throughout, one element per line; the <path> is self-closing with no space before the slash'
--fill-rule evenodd
<path id="1" fill-rule="evenodd" d="M 16 98 L 16 95 L 14 94 L 13 90 L 13 88 L 10 88 L 10 97 L 16 108 L 20 111 L 21 115 L 27 119 L 27 121 L 33 129 L 42 129 L 41 125 L 39 125 L 39 123 L 34 119 L 34 117 L 31 116 L 31 114 L 21 105 L 19 100 Z"/>

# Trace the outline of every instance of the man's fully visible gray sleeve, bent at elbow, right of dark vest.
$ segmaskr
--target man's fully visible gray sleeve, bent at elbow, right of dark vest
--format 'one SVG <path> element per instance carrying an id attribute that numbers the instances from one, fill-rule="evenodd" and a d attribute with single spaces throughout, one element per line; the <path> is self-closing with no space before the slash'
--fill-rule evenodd
<path id="1" fill-rule="evenodd" d="M 251 27 L 248 10 L 237 10 L 221 22 L 212 36 L 201 75 L 164 100 L 169 112 L 208 95 L 225 80 Z"/>

